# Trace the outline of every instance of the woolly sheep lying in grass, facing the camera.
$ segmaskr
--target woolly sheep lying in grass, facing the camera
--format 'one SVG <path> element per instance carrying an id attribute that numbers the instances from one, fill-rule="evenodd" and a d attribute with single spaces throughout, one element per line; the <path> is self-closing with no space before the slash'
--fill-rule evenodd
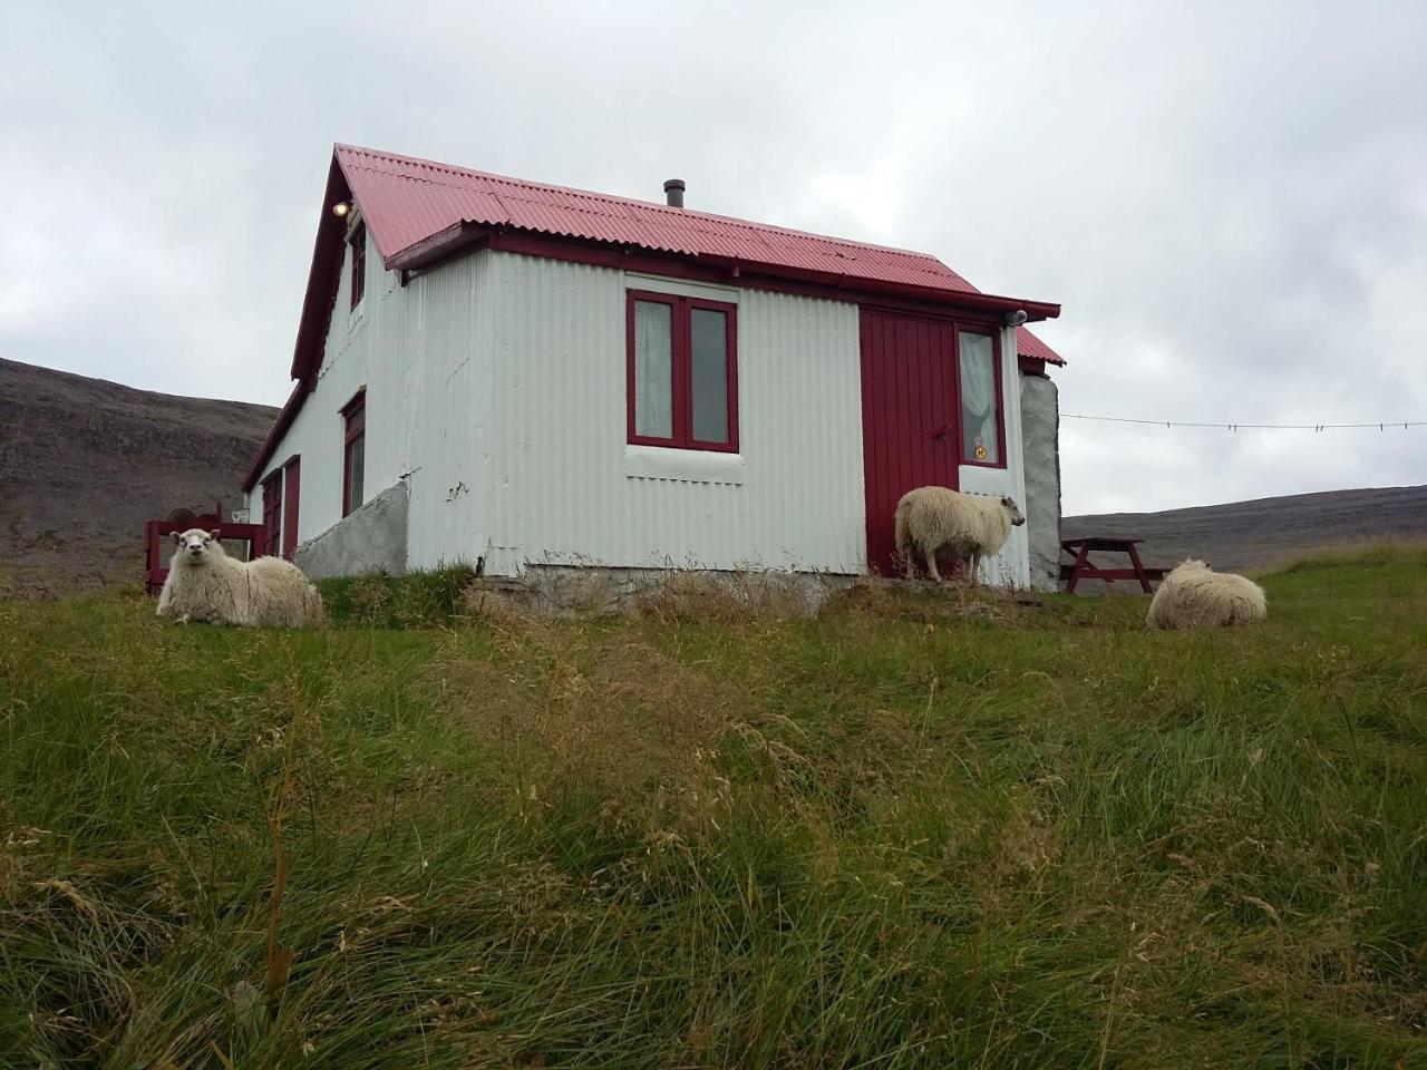
<path id="1" fill-rule="evenodd" d="M 174 532 L 158 615 L 250 628 L 303 628 L 323 621 L 323 599 L 297 565 L 283 558 L 234 561 L 218 532 Z"/>

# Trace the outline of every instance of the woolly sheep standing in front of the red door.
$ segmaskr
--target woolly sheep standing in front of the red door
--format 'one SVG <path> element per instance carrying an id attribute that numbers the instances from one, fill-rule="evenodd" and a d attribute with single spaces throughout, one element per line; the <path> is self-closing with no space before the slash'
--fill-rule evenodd
<path id="1" fill-rule="evenodd" d="M 966 561 L 966 579 L 976 582 L 982 559 L 993 556 L 1012 528 L 1026 522 L 1013 498 L 962 494 L 946 486 L 918 486 L 896 504 L 896 551 L 906 562 L 906 578 L 916 576 L 916 556 L 938 584 L 936 555 L 942 551 Z"/>

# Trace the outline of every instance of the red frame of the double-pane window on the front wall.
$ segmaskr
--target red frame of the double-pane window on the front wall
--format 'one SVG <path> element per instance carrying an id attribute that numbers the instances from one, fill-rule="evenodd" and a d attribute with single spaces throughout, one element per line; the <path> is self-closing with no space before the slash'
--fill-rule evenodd
<path id="1" fill-rule="evenodd" d="M 671 401 L 672 431 L 668 438 L 641 435 L 635 431 L 635 330 L 634 307 L 636 301 L 669 305 L 671 350 L 674 358 Z M 706 308 L 723 312 L 728 330 L 725 332 L 728 384 L 728 441 L 705 442 L 694 438 L 694 328 L 692 312 Z M 709 301 L 702 297 L 682 297 L 652 290 L 625 291 L 625 439 L 631 445 L 659 445 L 675 449 L 708 449 L 721 454 L 738 452 L 738 305 L 729 301 Z"/>

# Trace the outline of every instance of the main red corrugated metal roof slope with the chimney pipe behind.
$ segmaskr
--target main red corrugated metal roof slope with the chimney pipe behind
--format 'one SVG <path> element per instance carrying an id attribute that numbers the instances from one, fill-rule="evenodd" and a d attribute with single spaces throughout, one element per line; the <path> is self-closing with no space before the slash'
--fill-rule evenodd
<path id="1" fill-rule="evenodd" d="M 447 227 L 472 223 L 685 257 L 823 271 L 853 281 L 979 292 L 925 253 L 505 178 L 355 146 L 337 146 L 337 160 L 388 267 L 398 254 Z"/>

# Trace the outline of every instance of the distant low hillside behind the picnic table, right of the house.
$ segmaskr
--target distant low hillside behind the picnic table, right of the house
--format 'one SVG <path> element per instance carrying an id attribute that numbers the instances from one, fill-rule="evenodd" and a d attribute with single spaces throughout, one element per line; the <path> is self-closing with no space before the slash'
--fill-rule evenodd
<path id="1" fill-rule="evenodd" d="M 1184 558 L 1220 571 L 1263 569 L 1314 551 L 1374 539 L 1427 538 L 1427 486 L 1326 491 L 1203 505 L 1166 512 L 1066 516 L 1062 538 L 1107 535 L 1143 539 L 1146 565 Z M 1123 566 L 1123 558 L 1117 562 Z M 1116 585 L 1116 589 L 1130 585 Z"/>

